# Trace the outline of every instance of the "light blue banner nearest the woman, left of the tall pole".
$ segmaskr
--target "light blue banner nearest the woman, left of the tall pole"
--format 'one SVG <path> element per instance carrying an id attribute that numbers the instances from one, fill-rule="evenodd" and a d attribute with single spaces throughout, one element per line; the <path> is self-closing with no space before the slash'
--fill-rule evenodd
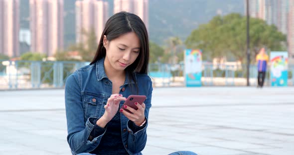
<path id="1" fill-rule="evenodd" d="M 185 58 L 185 83 L 186 86 L 201 86 L 202 77 L 202 51 L 186 49 Z"/>

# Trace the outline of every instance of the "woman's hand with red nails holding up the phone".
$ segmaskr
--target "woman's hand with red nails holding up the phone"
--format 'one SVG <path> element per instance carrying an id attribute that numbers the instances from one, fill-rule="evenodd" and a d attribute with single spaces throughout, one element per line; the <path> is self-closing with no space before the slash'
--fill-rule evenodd
<path id="1" fill-rule="evenodd" d="M 139 104 L 138 102 L 135 102 L 135 105 L 138 107 L 137 110 L 135 110 L 132 107 L 129 107 L 125 105 L 125 108 L 131 111 L 132 113 L 129 113 L 128 111 L 124 109 L 120 109 L 120 111 L 127 117 L 129 120 L 133 121 L 137 126 L 140 126 L 145 121 L 145 103 Z"/>

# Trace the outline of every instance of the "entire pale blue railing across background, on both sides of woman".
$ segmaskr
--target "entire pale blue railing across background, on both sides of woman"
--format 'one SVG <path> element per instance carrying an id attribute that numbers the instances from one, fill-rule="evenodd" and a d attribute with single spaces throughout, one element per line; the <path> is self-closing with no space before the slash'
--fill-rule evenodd
<path id="1" fill-rule="evenodd" d="M 56 61 L 1 61 L 0 89 L 61 88 L 66 78 L 89 62 Z M 153 86 L 184 86 L 184 64 L 150 64 L 149 75 Z M 294 66 L 288 68 L 288 85 L 294 85 Z M 245 86 L 247 84 L 245 65 L 203 64 L 203 86 Z M 257 67 L 250 66 L 250 84 L 257 85 Z M 265 85 L 270 85 L 267 72 Z"/>

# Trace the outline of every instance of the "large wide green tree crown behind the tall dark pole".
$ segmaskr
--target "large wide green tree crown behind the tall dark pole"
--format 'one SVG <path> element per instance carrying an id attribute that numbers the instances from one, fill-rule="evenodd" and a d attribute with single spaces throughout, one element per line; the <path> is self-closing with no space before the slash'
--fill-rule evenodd
<path id="1" fill-rule="evenodd" d="M 215 16 L 207 24 L 193 30 L 186 39 L 187 48 L 202 49 L 203 59 L 233 56 L 244 62 L 246 59 L 246 16 L 231 13 Z M 274 25 L 264 20 L 250 18 L 251 60 L 260 48 L 266 46 L 271 50 L 286 50 L 286 36 Z"/>

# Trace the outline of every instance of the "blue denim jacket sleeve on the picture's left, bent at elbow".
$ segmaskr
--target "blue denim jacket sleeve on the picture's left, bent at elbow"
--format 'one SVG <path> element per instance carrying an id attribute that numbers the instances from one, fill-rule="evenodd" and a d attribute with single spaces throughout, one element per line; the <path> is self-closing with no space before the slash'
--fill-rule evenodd
<path id="1" fill-rule="evenodd" d="M 67 121 L 67 142 L 73 155 L 88 153 L 94 150 L 100 143 L 100 135 L 90 138 L 90 134 L 98 118 L 90 117 L 84 120 L 84 110 L 79 83 L 79 73 L 75 72 L 66 79 L 65 83 L 65 111 Z M 93 132 L 92 132 L 93 133 Z M 91 141 L 89 140 L 91 139 Z"/>

